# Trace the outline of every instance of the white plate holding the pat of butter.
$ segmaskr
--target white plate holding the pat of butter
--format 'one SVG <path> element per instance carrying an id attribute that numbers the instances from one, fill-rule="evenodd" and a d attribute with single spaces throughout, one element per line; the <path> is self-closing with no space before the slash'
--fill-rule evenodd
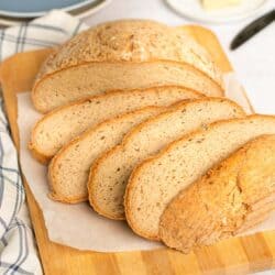
<path id="1" fill-rule="evenodd" d="M 232 6 L 217 11 L 206 11 L 200 0 L 165 1 L 173 10 L 189 19 L 201 22 L 224 23 L 245 19 L 255 14 L 266 0 L 243 0 L 239 6 Z"/>

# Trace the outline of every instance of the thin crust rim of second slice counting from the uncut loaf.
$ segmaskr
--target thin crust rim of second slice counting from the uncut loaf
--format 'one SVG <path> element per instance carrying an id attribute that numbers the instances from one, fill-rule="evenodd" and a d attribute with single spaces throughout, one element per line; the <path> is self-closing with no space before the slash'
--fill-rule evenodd
<path id="1" fill-rule="evenodd" d="M 150 110 L 155 110 L 155 109 L 160 109 L 160 110 L 166 110 L 168 109 L 168 107 L 155 107 L 155 106 L 150 106 L 150 107 L 144 107 L 142 109 L 139 109 L 136 111 L 131 111 L 131 112 L 127 112 L 123 113 L 121 116 L 118 116 L 116 118 L 111 118 L 108 119 L 99 124 L 97 124 L 95 128 L 88 129 L 86 130 L 81 135 L 75 138 L 74 140 L 72 140 L 70 142 L 68 142 L 65 146 L 63 146 L 58 153 L 52 158 L 50 165 L 48 165 L 48 184 L 51 186 L 51 193 L 50 193 L 50 198 L 53 200 L 57 200 L 61 202 L 66 202 L 66 204 L 78 204 L 78 202 L 82 202 L 82 201 L 87 201 L 88 197 L 72 197 L 72 199 L 68 199 L 64 196 L 61 196 L 61 194 L 58 194 L 57 191 L 55 191 L 55 186 L 56 186 L 56 179 L 55 179 L 55 169 L 58 169 L 58 167 L 56 167 L 57 162 L 59 161 L 59 158 L 63 156 L 64 152 L 66 152 L 70 146 L 74 146 L 76 143 L 80 142 L 81 140 L 85 140 L 86 136 L 90 135 L 92 132 L 95 132 L 98 128 L 101 128 L 102 125 L 106 125 L 107 123 L 110 123 L 111 121 L 119 121 L 121 119 L 124 119 L 125 117 L 130 117 L 136 113 L 143 113 L 143 112 L 147 112 Z M 109 218 L 109 217 L 108 217 Z"/>

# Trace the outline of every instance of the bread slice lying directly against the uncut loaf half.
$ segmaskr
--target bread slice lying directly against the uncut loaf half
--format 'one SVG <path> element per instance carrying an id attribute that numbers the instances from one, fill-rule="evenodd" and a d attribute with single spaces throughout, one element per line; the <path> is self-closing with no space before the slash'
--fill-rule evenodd
<path id="1" fill-rule="evenodd" d="M 30 148 L 34 157 L 47 163 L 72 139 L 107 119 L 147 106 L 168 106 L 200 97 L 185 88 L 162 87 L 87 98 L 44 116 L 32 131 Z"/>

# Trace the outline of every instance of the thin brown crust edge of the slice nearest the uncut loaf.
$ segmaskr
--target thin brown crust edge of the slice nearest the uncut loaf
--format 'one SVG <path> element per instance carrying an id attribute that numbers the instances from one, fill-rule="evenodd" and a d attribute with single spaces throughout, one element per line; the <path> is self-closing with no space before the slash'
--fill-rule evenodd
<path id="1" fill-rule="evenodd" d="M 70 107 L 76 106 L 76 105 L 82 105 L 82 103 L 85 103 L 87 101 L 90 101 L 90 100 L 98 100 L 98 99 L 106 98 L 106 97 L 112 97 L 113 95 L 118 95 L 118 94 L 124 94 L 124 92 L 130 94 L 130 92 L 133 92 L 133 91 L 143 91 L 143 92 L 152 92 L 152 94 L 154 94 L 154 92 L 156 92 L 158 90 L 169 89 L 169 88 L 183 89 L 183 92 L 190 92 L 190 95 L 194 95 L 196 97 L 204 97 L 204 95 L 201 95 L 198 91 L 187 89 L 187 88 L 180 87 L 180 86 L 151 87 L 151 88 L 147 88 L 147 89 L 134 89 L 134 90 L 127 90 L 127 91 L 113 90 L 113 91 L 110 91 L 110 92 L 105 94 L 105 95 L 87 97 L 87 98 L 84 98 L 84 99 L 80 99 L 80 100 L 76 100 L 76 101 L 74 101 L 72 103 L 68 103 L 66 106 L 58 107 L 58 108 L 54 109 L 53 111 L 46 113 L 41 120 L 38 120 L 34 124 L 34 128 L 32 130 L 29 148 L 31 150 L 32 155 L 33 155 L 33 157 L 35 160 L 37 160 L 42 164 L 48 164 L 48 162 L 51 161 L 51 158 L 53 156 L 52 155 L 46 155 L 45 153 L 41 152 L 41 150 L 36 146 L 36 144 L 35 144 L 35 132 L 36 132 L 37 127 L 40 125 L 40 123 L 42 123 L 43 121 L 45 121 L 48 118 L 53 117 L 55 113 L 58 113 L 59 111 L 64 111 L 64 110 L 69 109 Z"/>

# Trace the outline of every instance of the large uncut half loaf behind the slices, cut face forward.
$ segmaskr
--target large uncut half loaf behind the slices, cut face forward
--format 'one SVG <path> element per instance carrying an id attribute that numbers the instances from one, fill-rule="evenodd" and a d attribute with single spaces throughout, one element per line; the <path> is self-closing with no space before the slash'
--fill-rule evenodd
<path id="1" fill-rule="evenodd" d="M 109 22 L 82 32 L 45 61 L 32 91 L 47 112 L 110 90 L 183 86 L 222 96 L 222 74 L 183 29 L 147 20 Z"/>

